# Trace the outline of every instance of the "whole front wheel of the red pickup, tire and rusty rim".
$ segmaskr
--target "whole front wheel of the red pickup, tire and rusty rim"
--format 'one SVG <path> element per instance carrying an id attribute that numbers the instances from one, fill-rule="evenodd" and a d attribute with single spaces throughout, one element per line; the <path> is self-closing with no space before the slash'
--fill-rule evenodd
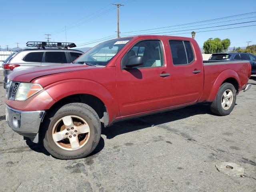
<path id="1" fill-rule="evenodd" d="M 50 113 L 45 122 L 44 147 L 59 159 L 84 158 L 100 140 L 99 117 L 83 103 L 66 104 Z"/>

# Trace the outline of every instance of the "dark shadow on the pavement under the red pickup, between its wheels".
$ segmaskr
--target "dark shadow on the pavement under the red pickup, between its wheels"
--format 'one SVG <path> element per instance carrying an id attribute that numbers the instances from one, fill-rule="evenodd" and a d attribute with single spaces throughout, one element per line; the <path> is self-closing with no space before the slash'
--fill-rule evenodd
<path id="1" fill-rule="evenodd" d="M 126 120 L 123 122 L 116 122 L 110 127 L 103 128 L 102 134 L 106 135 L 107 139 L 112 139 L 120 134 L 125 134 L 128 132 L 158 125 L 161 125 L 161 127 L 171 130 L 172 128 L 168 128 L 168 126 L 162 124 L 167 122 L 173 122 L 176 120 L 181 120 L 199 114 L 215 115 L 210 111 L 210 106 L 208 103 L 199 103 L 193 106 L 188 106 L 182 109 L 177 109 L 169 112 L 143 116 L 140 118 Z"/>

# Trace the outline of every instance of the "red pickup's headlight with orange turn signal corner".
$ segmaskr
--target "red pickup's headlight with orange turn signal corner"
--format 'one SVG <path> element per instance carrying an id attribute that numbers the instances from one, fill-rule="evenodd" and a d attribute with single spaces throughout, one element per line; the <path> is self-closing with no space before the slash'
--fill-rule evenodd
<path id="1" fill-rule="evenodd" d="M 42 90 L 42 86 L 36 83 L 20 83 L 15 100 L 24 101 Z"/>

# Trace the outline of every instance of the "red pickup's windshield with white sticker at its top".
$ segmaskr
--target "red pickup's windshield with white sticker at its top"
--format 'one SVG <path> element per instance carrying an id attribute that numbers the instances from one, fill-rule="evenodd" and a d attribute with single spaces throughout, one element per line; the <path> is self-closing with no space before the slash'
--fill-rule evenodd
<path id="1" fill-rule="evenodd" d="M 74 63 L 106 66 L 131 39 L 132 38 L 119 38 L 98 44 L 80 56 Z"/>

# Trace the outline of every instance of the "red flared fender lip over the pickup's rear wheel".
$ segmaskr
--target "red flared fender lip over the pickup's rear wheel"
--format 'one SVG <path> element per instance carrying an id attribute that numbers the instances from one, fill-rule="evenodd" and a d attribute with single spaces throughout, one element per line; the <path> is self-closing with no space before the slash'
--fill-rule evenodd
<path id="1" fill-rule="evenodd" d="M 224 70 L 222 71 L 218 77 L 215 79 L 215 82 L 212 86 L 212 90 L 211 90 L 211 93 L 210 93 L 210 96 L 209 98 L 207 99 L 207 101 L 210 101 L 212 102 L 215 98 L 216 98 L 216 95 L 218 93 L 218 90 L 221 86 L 221 84 L 228 78 L 234 78 L 237 82 L 238 82 L 238 90 L 240 89 L 240 78 L 237 74 L 237 72 L 235 72 L 234 70 L 232 69 L 227 69 L 227 70 Z"/>

